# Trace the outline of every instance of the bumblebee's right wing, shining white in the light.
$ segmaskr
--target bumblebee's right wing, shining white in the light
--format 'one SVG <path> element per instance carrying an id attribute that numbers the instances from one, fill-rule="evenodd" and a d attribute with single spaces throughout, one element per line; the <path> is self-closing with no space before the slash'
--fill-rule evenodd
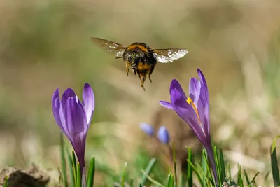
<path id="1" fill-rule="evenodd" d="M 188 53 L 188 50 L 182 48 L 169 48 L 169 49 L 153 49 L 153 57 L 158 62 L 167 63 L 173 62 Z"/>

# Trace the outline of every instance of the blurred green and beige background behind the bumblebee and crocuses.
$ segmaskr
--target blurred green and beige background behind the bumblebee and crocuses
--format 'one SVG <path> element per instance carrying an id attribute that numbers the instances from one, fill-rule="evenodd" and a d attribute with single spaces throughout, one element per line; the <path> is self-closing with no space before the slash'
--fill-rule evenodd
<path id="1" fill-rule="evenodd" d="M 143 167 L 144 158 L 161 153 L 139 130 L 146 122 L 167 126 L 183 160 L 184 145 L 200 143 L 158 101 L 169 100 L 173 78 L 188 92 L 188 81 L 200 68 L 209 85 L 214 141 L 230 162 L 265 171 L 269 146 L 280 133 L 279 7 L 279 1 L 260 0 L 2 0 L 1 167 L 31 162 L 58 167 L 52 93 L 73 88 L 81 97 L 85 82 L 96 99 L 88 159 L 95 155 L 114 171 L 124 162 Z M 91 36 L 124 45 L 141 41 L 152 48 L 187 48 L 188 55 L 158 64 L 144 92 L 137 76 L 127 77 L 123 60 L 99 50 Z"/>

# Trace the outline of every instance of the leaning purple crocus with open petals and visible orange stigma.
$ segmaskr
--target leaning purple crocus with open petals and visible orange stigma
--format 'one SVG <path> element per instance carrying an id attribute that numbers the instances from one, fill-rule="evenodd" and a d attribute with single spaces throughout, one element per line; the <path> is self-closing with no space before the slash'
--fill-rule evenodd
<path id="1" fill-rule="evenodd" d="M 199 79 L 191 78 L 189 95 L 186 96 L 180 83 L 174 79 L 170 85 L 171 102 L 160 101 L 162 106 L 173 109 L 193 130 L 202 142 L 209 155 L 213 167 L 215 181 L 218 183 L 214 151 L 211 146 L 210 119 L 209 119 L 209 92 L 207 83 L 200 69 L 197 69 Z"/>

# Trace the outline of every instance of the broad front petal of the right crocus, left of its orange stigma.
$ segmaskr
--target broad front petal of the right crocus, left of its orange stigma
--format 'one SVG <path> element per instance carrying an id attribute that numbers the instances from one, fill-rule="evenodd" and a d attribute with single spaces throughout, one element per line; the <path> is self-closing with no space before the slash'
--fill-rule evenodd
<path id="1" fill-rule="evenodd" d="M 183 120 L 185 120 L 186 123 L 188 123 L 188 125 L 193 130 L 193 132 L 196 134 L 197 138 L 200 139 L 202 144 L 205 144 L 206 139 L 205 139 L 204 133 L 202 131 L 200 122 L 197 118 L 197 113 L 195 113 L 193 106 L 190 106 L 190 104 L 188 104 L 188 102 L 186 102 L 186 99 L 176 89 L 172 90 L 171 102 L 172 102 L 174 111 L 176 111 L 176 113 Z"/>

